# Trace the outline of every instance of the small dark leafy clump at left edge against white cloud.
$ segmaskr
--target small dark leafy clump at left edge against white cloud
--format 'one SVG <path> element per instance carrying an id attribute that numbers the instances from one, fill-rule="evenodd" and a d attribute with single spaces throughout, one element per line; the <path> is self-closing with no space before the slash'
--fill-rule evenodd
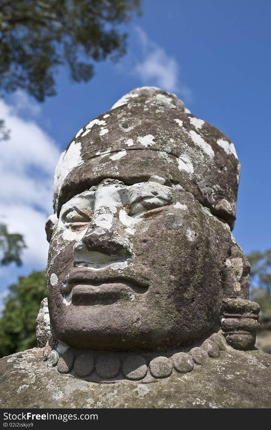
<path id="1" fill-rule="evenodd" d="M 15 261 L 21 266 L 21 252 L 26 248 L 24 239 L 19 233 L 9 233 L 5 224 L 0 224 L 0 264 L 5 266 Z"/>

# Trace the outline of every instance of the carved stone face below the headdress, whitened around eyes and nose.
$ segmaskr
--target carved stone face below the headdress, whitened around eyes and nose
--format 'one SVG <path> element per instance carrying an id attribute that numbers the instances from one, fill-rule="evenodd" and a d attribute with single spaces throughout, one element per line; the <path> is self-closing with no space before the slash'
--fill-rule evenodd
<path id="1" fill-rule="evenodd" d="M 228 225 L 180 187 L 108 179 L 76 195 L 49 248 L 56 338 L 98 350 L 192 343 L 218 322 L 230 242 Z"/>

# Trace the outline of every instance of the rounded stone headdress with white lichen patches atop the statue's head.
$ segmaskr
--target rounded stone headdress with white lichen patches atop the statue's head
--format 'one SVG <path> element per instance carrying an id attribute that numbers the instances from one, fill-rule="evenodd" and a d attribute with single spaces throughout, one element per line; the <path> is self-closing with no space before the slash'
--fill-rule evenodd
<path id="1" fill-rule="evenodd" d="M 179 184 L 214 214 L 234 221 L 240 164 L 233 143 L 184 112 L 176 96 L 157 95 L 146 87 L 134 90 L 125 95 L 128 103 L 76 134 L 56 170 L 58 214 L 63 203 L 105 178 L 131 184 L 157 174 L 166 185 Z M 69 164 L 73 169 L 67 169 Z"/>

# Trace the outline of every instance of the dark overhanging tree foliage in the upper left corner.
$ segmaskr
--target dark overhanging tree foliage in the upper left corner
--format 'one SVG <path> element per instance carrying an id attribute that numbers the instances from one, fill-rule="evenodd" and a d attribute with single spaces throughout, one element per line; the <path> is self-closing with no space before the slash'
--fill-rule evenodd
<path id="1" fill-rule="evenodd" d="M 37 100 L 55 95 L 58 66 L 87 82 L 93 61 L 125 53 L 131 19 L 141 0 L 0 0 L 0 88 L 25 89 Z"/>

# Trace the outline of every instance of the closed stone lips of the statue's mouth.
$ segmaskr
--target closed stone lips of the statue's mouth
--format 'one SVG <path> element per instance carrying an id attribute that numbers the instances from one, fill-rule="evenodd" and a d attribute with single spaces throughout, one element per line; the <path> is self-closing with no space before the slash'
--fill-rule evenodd
<path id="1" fill-rule="evenodd" d="M 113 304 L 117 301 L 134 301 L 137 295 L 149 288 L 146 280 L 138 276 L 94 274 L 86 267 L 74 268 L 61 292 L 66 301 L 75 306 Z M 66 303 L 67 304 L 67 303 Z"/>

